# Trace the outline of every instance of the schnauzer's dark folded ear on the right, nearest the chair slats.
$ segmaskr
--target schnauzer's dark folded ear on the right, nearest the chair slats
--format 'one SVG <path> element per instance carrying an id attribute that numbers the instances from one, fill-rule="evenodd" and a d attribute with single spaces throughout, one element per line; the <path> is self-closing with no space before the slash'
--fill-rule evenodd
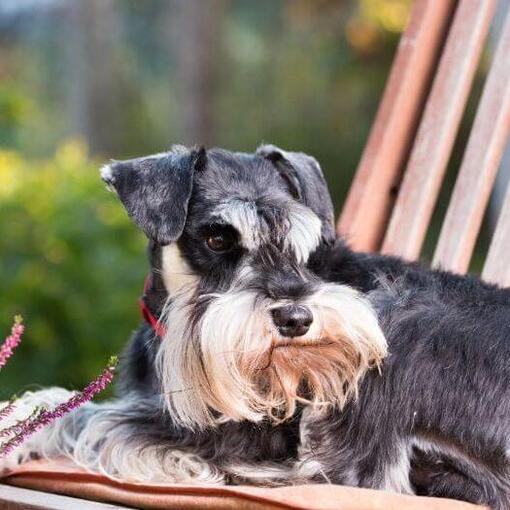
<path id="1" fill-rule="evenodd" d="M 317 160 L 303 152 L 288 152 L 274 145 L 261 145 L 257 154 L 269 159 L 289 184 L 294 196 L 322 222 L 322 236 L 335 239 L 335 213 L 328 186 Z"/>

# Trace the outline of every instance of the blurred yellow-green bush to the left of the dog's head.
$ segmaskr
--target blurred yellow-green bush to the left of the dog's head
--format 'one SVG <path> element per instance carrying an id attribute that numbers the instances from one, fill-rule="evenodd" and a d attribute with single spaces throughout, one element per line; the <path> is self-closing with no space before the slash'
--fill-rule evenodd
<path id="1" fill-rule="evenodd" d="M 26 338 L 1 397 L 30 385 L 82 386 L 136 326 L 144 239 L 77 142 L 54 158 L 0 151 L 0 331 Z"/>

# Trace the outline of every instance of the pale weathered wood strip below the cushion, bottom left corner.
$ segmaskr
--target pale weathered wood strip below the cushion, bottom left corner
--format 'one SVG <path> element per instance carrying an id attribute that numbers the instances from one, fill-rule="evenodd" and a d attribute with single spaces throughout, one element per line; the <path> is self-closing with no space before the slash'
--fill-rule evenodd
<path id="1" fill-rule="evenodd" d="M 127 507 L 0 485 L 2 510 L 127 510 Z"/>

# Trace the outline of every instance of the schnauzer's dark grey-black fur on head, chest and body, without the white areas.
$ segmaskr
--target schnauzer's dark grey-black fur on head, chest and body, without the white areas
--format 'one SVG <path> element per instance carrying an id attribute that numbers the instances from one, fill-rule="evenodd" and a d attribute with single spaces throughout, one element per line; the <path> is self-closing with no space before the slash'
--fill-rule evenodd
<path id="1" fill-rule="evenodd" d="M 304 202 L 322 221 L 321 242 L 298 272 L 277 254 L 273 265 L 258 261 L 264 267 L 260 292 L 299 297 L 317 280 L 355 287 L 370 296 L 389 350 L 380 373 L 374 369 L 362 379 L 358 398 L 307 424 L 311 455 L 321 465 L 312 480 L 379 488 L 395 465 L 403 473 L 397 477 L 410 471 L 418 494 L 510 508 L 510 291 L 398 258 L 354 253 L 334 236 L 320 171 L 289 154 L 191 151 L 111 167 L 106 181 L 150 239 L 147 305 L 159 316 L 168 298 L 161 248 L 170 242 L 200 276 L 201 292 L 228 287 L 237 254 L 211 254 L 197 231 L 220 196 L 265 196 L 261 206 L 275 224 L 271 200 L 278 193 Z M 162 203 L 166 209 L 158 209 Z M 156 398 L 159 341 L 143 324 L 123 357 L 119 394 L 136 389 L 142 396 L 134 404 L 140 409 L 124 418 L 134 429 L 224 467 L 230 483 L 250 480 L 227 466 L 290 467 L 298 460 L 303 408 L 278 425 L 229 421 L 197 431 L 174 423 Z M 409 449 L 410 466 L 399 464 L 402 449 Z"/>

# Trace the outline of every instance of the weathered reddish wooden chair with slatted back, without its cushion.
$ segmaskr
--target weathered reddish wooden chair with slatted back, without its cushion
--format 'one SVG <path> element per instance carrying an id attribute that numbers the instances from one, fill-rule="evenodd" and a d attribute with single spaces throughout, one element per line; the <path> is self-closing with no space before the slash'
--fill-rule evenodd
<path id="1" fill-rule="evenodd" d="M 415 1 L 338 221 L 338 232 L 354 248 L 419 257 L 495 4 Z M 510 13 L 506 18 L 433 258 L 435 266 L 460 273 L 468 269 L 510 133 Z M 509 249 L 510 190 L 484 279 L 510 285 Z M 0 487 L 0 506 L 120 508 L 6 486 Z"/>

